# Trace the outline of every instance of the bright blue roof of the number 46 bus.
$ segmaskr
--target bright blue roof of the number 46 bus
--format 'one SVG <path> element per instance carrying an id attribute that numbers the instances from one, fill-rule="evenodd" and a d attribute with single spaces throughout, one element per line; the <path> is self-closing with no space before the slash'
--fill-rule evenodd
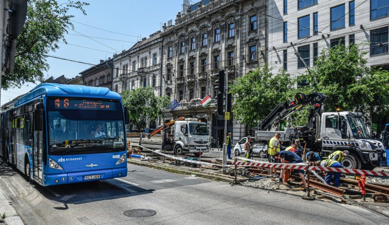
<path id="1" fill-rule="evenodd" d="M 32 100 L 38 96 L 67 96 L 67 97 L 90 97 L 90 98 L 107 98 L 107 99 L 121 99 L 121 96 L 108 88 L 88 87 L 84 85 L 64 85 L 43 83 L 36 86 L 26 95 L 17 100 L 14 106 L 18 106 Z"/>

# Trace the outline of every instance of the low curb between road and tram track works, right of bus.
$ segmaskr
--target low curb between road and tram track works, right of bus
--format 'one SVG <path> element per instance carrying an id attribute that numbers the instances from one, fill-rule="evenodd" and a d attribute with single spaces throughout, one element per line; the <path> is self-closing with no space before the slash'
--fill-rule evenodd
<path id="1" fill-rule="evenodd" d="M 134 164 L 137 166 L 145 166 L 145 167 L 150 167 L 150 168 L 154 168 L 154 169 L 164 170 L 164 171 L 168 171 L 168 172 L 172 172 L 172 173 L 185 174 L 185 175 L 196 175 L 198 177 L 211 179 L 211 180 L 215 180 L 215 181 L 234 182 L 234 179 L 231 179 L 231 178 L 220 177 L 220 176 L 211 175 L 211 174 L 204 174 L 201 172 L 180 170 L 180 169 L 176 169 L 176 168 L 165 167 L 165 166 L 160 166 L 160 165 L 153 165 L 150 163 L 137 162 L 137 161 L 133 161 L 133 160 L 128 160 L 127 163 Z"/>

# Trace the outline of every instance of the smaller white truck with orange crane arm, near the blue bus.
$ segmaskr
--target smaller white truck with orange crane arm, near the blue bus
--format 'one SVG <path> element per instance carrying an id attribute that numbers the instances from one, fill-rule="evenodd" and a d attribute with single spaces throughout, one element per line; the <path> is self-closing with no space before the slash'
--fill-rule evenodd
<path id="1" fill-rule="evenodd" d="M 210 149 L 210 136 L 207 124 L 197 119 L 180 117 L 172 120 L 150 133 L 147 138 L 164 131 L 162 137 L 162 150 L 174 155 L 192 153 L 199 156 L 200 152 L 208 153 Z M 172 131 L 172 133 L 171 133 Z"/>

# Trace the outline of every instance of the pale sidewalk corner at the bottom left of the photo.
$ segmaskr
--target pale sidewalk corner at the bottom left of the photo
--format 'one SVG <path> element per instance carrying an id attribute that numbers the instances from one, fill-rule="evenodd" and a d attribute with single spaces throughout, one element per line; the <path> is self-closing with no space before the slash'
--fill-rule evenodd
<path id="1" fill-rule="evenodd" d="M 2 216 L 5 213 L 6 218 L 3 219 Z M 11 201 L 4 194 L 2 187 L 0 186 L 0 224 L 5 222 L 9 225 L 23 225 L 23 221 L 20 219 L 18 213 L 12 206 Z"/>

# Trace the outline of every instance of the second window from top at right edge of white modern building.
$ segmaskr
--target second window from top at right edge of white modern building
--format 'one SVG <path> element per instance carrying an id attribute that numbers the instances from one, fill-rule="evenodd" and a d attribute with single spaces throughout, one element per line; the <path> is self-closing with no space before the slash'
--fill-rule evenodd
<path id="1" fill-rule="evenodd" d="M 388 52 L 388 27 L 370 30 L 370 55 Z"/>

